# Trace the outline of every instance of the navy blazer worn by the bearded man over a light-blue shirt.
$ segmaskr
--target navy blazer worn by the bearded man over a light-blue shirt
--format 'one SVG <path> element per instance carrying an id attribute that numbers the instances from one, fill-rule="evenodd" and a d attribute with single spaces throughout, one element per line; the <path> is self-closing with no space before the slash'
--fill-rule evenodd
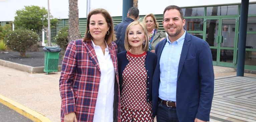
<path id="1" fill-rule="evenodd" d="M 153 117 L 158 106 L 160 82 L 159 61 L 167 39 L 156 46 L 157 65 L 153 77 Z M 180 122 L 195 118 L 209 121 L 214 92 L 214 71 L 209 44 L 186 33 L 178 67 L 176 110 Z"/>

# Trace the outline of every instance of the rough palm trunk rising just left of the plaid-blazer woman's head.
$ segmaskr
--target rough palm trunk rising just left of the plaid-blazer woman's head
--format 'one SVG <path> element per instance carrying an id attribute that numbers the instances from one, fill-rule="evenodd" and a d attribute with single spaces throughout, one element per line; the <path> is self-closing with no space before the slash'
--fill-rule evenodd
<path id="1" fill-rule="evenodd" d="M 78 18 L 78 0 L 68 0 L 69 12 L 68 12 L 68 25 L 69 25 L 69 42 L 80 39 L 79 31 L 79 18 Z"/>

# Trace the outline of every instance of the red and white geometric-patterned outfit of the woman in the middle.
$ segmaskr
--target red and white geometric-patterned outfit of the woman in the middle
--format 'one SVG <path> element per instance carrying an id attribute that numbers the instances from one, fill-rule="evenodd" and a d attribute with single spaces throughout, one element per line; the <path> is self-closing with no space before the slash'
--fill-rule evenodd
<path id="1" fill-rule="evenodd" d="M 126 53 L 129 63 L 122 73 L 121 121 L 153 122 L 152 102 L 147 102 L 147 70 L 145 58 L 147 52 L 140 55 Z"/>

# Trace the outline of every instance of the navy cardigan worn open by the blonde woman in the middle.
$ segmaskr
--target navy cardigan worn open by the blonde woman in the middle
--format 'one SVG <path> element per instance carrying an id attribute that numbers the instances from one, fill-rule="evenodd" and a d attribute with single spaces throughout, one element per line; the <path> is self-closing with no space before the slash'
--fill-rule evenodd
<path id="1" fill-rule="evenodd" d="M 120 94 L 122 92 L 122 74 L 123 70 L 126 67 L 126 65 L 129 63 L 129 60 L 126 58 L 127 51 L 123 51 L 119 54 L 117 54 L 117 61 L 118 61 L 118 73 L 119 73 L 119 85 L 120 85 Z M 145 68 L 147 70 L 147 101 L 152 101 L 152 78 L 155 71 L 157 63 L 157 55 L 155 53 L 152 53 L 150 51 L 147 51 L 147 56 L 145 59 Z"/>

